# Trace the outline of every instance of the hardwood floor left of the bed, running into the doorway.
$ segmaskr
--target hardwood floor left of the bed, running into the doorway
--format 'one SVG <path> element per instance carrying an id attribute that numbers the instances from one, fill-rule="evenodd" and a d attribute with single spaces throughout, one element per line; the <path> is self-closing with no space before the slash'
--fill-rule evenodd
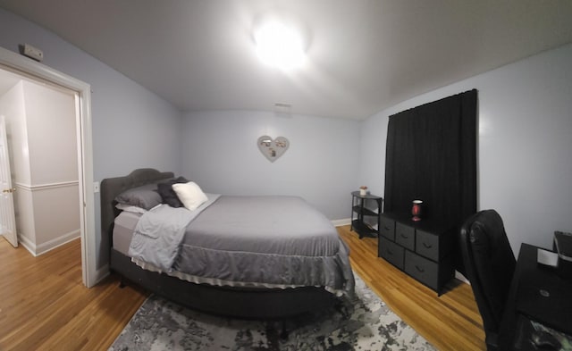
<path id="1" fill-rule="evenodd" d="M 81 282 L 80 239 L 34 257 L 0 238 L 0 350 L 106 350 L 145 301 L 108 277 Z"/>

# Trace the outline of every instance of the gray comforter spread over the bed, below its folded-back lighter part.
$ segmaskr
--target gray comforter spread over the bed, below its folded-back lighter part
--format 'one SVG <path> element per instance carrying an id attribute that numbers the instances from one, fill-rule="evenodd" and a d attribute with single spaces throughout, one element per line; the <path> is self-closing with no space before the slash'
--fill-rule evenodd
<path id="1" fill-rule="evenodd" d="M 176 237 L 177 255 L 167 264 L 187 280 L 353 294 L 348 247 L 300 197 L 220 196 Z"/>

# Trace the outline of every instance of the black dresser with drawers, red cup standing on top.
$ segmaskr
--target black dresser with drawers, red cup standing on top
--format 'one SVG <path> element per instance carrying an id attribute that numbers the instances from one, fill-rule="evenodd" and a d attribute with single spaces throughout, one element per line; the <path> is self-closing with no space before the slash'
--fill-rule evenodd
<path id="1" fill-rule="evenodd" d="M 412 221 L 409 213 L 381 213 L 378 256 L 432 288 L 438 295 L 455 273 L 455 228 Z"/>

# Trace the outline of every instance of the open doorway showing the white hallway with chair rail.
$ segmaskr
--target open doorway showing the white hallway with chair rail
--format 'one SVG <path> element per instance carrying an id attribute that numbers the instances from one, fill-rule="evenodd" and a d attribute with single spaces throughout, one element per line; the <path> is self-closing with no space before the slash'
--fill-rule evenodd
<path id="1" fill-rule="evenodd" d="M 0 172 L 2 233 L 14 244 L 17 231 L 16 243 L 32 255 L 80 238 L 76 95 L 0 69 L 0 119 L 10 137 Z"/>

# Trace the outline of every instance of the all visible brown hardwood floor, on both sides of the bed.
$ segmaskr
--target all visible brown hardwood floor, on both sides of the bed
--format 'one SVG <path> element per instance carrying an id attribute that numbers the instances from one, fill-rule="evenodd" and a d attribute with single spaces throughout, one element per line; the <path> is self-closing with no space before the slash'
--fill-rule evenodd
<path id="1" fill-rule="evenodd" d="M 484 331 L 467 284 L 437 297 L 377 257 L 377 239 L 339 227 L 354 272 L 439 350 L 484 350 Z M 0 350 L 106 350 L 147 297 L 114 276 L 81 283 L 80 240 L 33 257 L 0 238 Z"/>

